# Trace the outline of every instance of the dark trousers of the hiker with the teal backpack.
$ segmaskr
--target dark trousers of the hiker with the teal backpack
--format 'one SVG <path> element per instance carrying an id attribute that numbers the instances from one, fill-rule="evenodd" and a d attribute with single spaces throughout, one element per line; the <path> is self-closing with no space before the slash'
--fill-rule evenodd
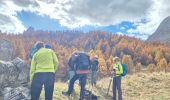
<path id="1" fill-rule="evenodd" d="M 118 100 L 122 100 L 121 76 L 113 78 L 113 100 L 116 100 L 116 91 L 118 91 Z"/>

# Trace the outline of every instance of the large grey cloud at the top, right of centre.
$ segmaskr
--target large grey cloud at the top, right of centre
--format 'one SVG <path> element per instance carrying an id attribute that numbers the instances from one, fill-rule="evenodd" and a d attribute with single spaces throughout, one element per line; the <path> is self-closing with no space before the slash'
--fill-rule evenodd
<path id="1" fill-rule="evenodd" d="M 91 22 L 112 24 L 121 20 L 132 20 L 145 16 L 151 0 L 77 0 L 67 12 Z"/>

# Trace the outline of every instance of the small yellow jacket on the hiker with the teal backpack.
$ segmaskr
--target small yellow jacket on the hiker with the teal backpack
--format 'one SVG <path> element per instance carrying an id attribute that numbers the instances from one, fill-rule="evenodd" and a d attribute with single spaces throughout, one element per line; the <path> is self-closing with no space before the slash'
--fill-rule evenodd
<path id="1" fill-rule="evenodd" d="M 121 76 L 123 74 L 123 67 L 120 62 L 114 64 L 113 69 L 115 69 L 115 76 Z"/>

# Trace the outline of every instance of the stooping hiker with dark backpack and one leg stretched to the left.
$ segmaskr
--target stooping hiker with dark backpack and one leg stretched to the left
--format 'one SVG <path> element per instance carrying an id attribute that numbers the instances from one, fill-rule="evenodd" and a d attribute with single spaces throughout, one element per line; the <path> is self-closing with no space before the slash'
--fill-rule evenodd
<path id="1" fill-rule="evenodd" d="M 89 73 L 90 59 L 89 56 L 84 52 L 78 52 L 78 56 L 73 60 L 73 64 L 75 67 L 75 75 L 71 78 L 69 82 L 69 87 L 67 92 L 62 92 L 65 96 L 70 96 L 74 89 L 74 83 L 77 79 L 79 79 L 79 84 L 81 87 L 80 90 L 80 100 L 83 100 L 85 95 L 85 85 L 87 74 Z"/>

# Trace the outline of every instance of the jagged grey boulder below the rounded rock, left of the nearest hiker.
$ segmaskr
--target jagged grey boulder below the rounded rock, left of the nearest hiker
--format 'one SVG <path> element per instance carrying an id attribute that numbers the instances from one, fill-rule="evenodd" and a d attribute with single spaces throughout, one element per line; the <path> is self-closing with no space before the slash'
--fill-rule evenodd
<path id="1" fill-rule="evenodd" d="M 0 93 L 6 87 L 18 87 L 29 81 L 29 66 L 20 58 L 11 62 L 0 61 Z"/>

